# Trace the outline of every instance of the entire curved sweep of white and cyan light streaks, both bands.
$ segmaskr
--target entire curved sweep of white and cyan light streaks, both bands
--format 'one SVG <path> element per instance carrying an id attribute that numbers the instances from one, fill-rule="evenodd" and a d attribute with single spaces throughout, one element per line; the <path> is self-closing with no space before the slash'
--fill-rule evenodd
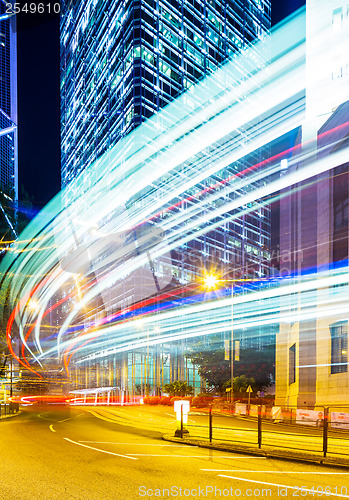
<path id="1" fill-rule="evenodd" d="M 319 157 L 339 143 L 317 149 L 308 142 L 244 165 L 249 155 L 304 123 L 305 44 L 300 30 L 293 36 L 303 16 L 273 33 L 283 43 L 270 65 L 259 69 L 248 52 L 234 56 L 100 158 L 90 168 L 93 183 L 87 187 L 83 176 L 73 181 L 28 226 L 1 264 L 2 314 L 11 353 L 19 362 L 35 371 L 26 352 L 39 365 L 56 356 L 68 371 L 74 355 L 81 363 L 145 345 L 214 335 L 231 329 L 232 307 L 234 325 L 241 329 L 290 322 L 295 314 L 302 320 L 343 313 L 342 295 L 327 300 L 327 292 L 322 297 L 318 289 L 346 289 L 346 268 L 293 277 L 291 284 L 287 278 L 270 281 L 265 289 L 246 288 L 229 298 L 226 290 L 215 299 L 208 294 L 199 303 L 197 284 L 163 292 L 172 274 L 159 271 L 160 264 L 161 269 L 170 266 L 171 251 L 266 207 L 285 196 L 280 192 L 286 188 L 304 189 L 306 181 L 346 162 L 348 148 Z M 285 40 L 292 42 L 287 46 Z M 237 74 L 236 58 L 249 65 L 248 78 Z M 349 123 L 339 127 L 346 130 Z M 285 158 L 286 171 L 281 164 Z M 294 168 L 300 163 L 302 168 Z M 220 171 L 229 175 L 217 181 Z M 165 237 L 141 236 L 147 224 Z M 118 290 L 128 281 L 134 288 L 145 283 L 148 295 L 132 302 L 127 289 L 120 299 Z M 193 303 L 179 297 L 189 292 Z M 302 310 L 292 312 L 287 297 L 298 293 Z M 136 316 L 127 317 L 131 313 Z M 54 345 L 43 324 L 52 314 L 59 323 Z M 143 333 L 136 328 L 139 317 Z M 161 333 L 144 330 L 155 322 Z M 16 329 L 22 359 L 11 347 Z"/>

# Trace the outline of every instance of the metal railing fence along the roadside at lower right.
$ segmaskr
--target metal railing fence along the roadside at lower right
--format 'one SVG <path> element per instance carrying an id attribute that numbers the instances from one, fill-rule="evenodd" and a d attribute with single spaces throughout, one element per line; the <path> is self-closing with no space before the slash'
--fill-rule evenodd
<path id="1" fill-rule="evenodd" d="M 245 406 L 235 406 L 228 411 L 210 408 L 200 424 L 187 424 L 190 436 L 211 443 L 282 448 L 320 457 L 349 457 L 349 406 L 315 409 Z M 203 411 L 200 410 L 201 415 Z"/>

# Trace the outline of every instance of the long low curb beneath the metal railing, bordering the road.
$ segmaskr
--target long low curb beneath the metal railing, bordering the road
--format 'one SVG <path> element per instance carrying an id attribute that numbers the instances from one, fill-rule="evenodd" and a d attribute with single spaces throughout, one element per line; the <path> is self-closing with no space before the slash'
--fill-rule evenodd
<path id="1" fill-rule="evenodd" d="M 345 467 L 349 468 L 349 459 L 340 459 L 333 457 L 322 457 L 319 455 L 314 455 L 313 453 L 303 452 L 297 453 L 289 450 L 283 452 L 282 450 L 274 450 L 272 448 L 259 449 L 256 447 L 239 446 L 239 445 L 228 445 L 225 442 L 209 443 L 208 441 L 202 439 L 191 439 L 191 438 L 177 438 L 171 435 L 164 435 L 164 441 L 169 441 L 173 443 L 187 444 L 188 446 L 198 446 L 199 448 L 207 448 L 210 450 L 226 451 L 228 453 L 241 453 L 243 455 L 256 455 L 266 458 L 277 458 L 281 460 L 292 460 L 298 462 L 312 462 L 320 465 L 332 466 L 332 467 Z"/>

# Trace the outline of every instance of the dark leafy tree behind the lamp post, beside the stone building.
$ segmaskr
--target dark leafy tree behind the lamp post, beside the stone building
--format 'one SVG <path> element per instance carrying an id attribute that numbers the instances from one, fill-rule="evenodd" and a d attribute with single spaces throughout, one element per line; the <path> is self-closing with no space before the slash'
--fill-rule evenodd
<path id="1" fill-rule="evenodd" d="M 225 351 L 222 347 L 204 346 L 199 342 L 193 347 L 192 352 L 187 354 L 187 358 L 198 367 L 199 375 L 206 380 L 212 390 L 223 395 L 225 389 L 230 387 L 231 364 L 230 360 L 225 361 Z M 241 349 L 240 360 L 234 361 L 234 380 L 235 377 L 242 375 L 247 379 L 253 378 L 254 389 L 262 390 L 274 381 L 274 365 L 273 345 L 261 350 Z"/>

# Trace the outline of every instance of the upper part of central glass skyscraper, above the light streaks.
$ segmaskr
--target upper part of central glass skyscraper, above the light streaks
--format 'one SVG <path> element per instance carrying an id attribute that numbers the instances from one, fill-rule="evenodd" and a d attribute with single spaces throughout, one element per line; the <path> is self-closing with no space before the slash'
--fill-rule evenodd
<path id="1" fill-rule="evenodd" d="M 269 0 L 62 2 L 63 186 L 269 28 Z"/>

